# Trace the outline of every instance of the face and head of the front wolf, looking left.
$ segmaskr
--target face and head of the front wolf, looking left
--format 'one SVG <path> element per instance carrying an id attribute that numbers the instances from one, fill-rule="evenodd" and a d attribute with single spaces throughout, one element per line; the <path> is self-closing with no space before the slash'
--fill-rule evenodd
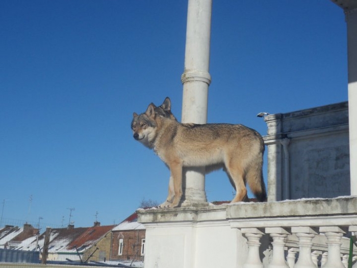
<path id="1" fill-rule="evenodd" d="M 152 148 L 152 142 L 156 136 L 155 108 L 157 107 L 151 103 L 146 112 L 141 114 L 133 113 L 133 137 L 149 148 Z"/>

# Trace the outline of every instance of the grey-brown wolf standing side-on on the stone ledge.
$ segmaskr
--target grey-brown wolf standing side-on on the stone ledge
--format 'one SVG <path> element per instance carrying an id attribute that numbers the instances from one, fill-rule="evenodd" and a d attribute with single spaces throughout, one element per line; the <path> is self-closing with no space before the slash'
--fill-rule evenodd
<path id="1" fill-rule="evenodd" d="M 173 208 L 183 196 L 183 167 L 223 168 L 236 196 L 231 203 L 247 199 L 248 183 L 258 201 L 266 201 L 263 181 L 264 141 L 251 128 L 233 124 L 182 124 L 171 112 L 167 97 L 163 104 L 150 103 L 141 114 L 133 113 L 134 139 L 161 158 L 170 169 L 168 196 L 159 207 Z"/>

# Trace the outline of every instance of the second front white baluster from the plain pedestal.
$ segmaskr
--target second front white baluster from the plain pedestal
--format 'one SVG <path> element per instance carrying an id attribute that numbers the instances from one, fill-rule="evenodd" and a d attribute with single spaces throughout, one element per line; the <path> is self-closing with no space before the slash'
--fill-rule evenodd
<path id="1" fill-rule="evenodd" d="M 284 246 L 290 233 L 282 227 L 267 227 L 265 232 L 273 238 L 273 257 L 268 268 L 289 268 L 285 261 Z"/>

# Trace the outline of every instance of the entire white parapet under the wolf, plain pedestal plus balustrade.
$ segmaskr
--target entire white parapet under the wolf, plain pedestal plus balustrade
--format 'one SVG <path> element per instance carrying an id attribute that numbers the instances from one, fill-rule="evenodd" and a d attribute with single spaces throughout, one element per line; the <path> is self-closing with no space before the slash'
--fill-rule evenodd
<path id="1" fill-rule="evenodd" d="M 148 267 L 347 268 L 349 237 L 357 235 L 357 197 L 150 209 L 138 215 L 146 227 Z"/>

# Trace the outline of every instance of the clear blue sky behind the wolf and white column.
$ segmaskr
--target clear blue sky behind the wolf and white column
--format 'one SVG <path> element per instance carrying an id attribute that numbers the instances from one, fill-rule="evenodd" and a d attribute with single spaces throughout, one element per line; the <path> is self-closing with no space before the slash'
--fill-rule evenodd
<path id="1" fill-rule="evenodd" d="M 0 1 L 3 224 L 66 226 L 75 208 L 77 227 L 96 211 L 110 225 L 142 199 L 164 201 L 169 170 L 130 123 L 166 96 L 181 118 L 186 13 L 182 0 Z M 262 135 L 259 112 L 347 101 L 343 11 L 329 0 L 213 0 L 210 73 L 209 123 Z M 232 199 L 222 171 L 206 190 Z"/>

